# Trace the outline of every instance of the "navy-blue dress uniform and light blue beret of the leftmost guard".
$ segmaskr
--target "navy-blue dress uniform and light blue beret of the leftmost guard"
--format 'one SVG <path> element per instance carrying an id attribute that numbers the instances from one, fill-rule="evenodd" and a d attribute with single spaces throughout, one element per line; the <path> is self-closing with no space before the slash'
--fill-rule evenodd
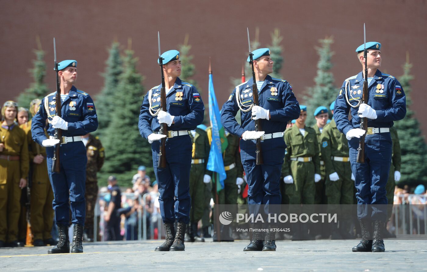
<path id="1" fill-rule="evenodd" d="M 58 70 L 66 67 L 77 67 L 77 61 L 67 60 L 58 64 Z M 37 113 L 32 118 L 32 138 L 42 145 L 47 139 L 44 134 L 46 120 L 56 116 L 56 92 L 48 94 L 42 100 Z M 98 127 L 97 114 L 94 101 L 89 94 L 72 87 L 67 97 L 61 101 L 61 117 L 68 122 L 68 129 L 62 130 L 60 152 L 60 173 L 52 172 L 52 158 L 55 146 L 46 147 L 47 170 L 50 184 L 53 189 L 53 209 L 56 224 L 66 226 L 69 224 L 69 211 L 71 208 L 73 224 L 81 227 L 85 224 L 85 182 L 86 182 L 86 148 L 82 142 L 82 135 L 94 132 Z M 55 129 L 52 124 L 47 128 L 47 134 L 53 137 Z M 43 145 L 42 145 L 43 146 Z M 69 250 L 69 249 L 68 249 Z"/>

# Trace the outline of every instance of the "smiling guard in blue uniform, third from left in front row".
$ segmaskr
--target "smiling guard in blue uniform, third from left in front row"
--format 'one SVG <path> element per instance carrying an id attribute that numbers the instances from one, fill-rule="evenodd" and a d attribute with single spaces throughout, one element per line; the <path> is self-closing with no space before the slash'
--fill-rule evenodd
<path id="1" fill-rule="evenodd" d="M 251 214 L 258 214 L 260 204 L 281 204 L 280 176 L 286 144 L 283 132 L 287 122 L 299 117 L 300 108 L 292 87 L 286 80 L 273 79 L 273 60 L 268 48 L 254 50 L 254 71 L 259 105 L 253 105 L 253 79 L 236 86 L 221 111 L 221 123 L 231 134 L 242 137 L 240 156 L 249 185 L 248 204 Z M 249 62 L 249 58 L 247 60 Z M 242 125 L 236 121 L 241 110 Z M 255 121 L 261 120 L 263 131 L 255 132 Z M 263 164 L 256 165 L 256 139 L 261 137 Z M 269 211 L 266 211 L 268 213 Z M 254 231 L 244 251 L 275 251 L 275 233 L 264 237 Z"/>

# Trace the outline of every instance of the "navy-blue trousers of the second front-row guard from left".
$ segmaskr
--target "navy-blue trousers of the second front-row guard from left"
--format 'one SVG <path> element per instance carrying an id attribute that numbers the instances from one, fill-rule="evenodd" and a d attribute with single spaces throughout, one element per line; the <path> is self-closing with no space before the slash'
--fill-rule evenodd
<path id="1" fill-rule="evenodd" d="M 165 223 L 190 223 L 190 168 L 193 143 L 190 135 L 166 140 L 166 168 L 157 168 L 160 141 L 151 146 L 159 188 L 160 214 Z"/>

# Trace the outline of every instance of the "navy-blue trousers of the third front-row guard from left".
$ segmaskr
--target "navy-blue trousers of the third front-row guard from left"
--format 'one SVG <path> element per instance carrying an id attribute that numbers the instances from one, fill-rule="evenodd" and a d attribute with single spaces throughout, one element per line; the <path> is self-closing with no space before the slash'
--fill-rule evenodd
<path id="1" fill-rule="evenodd" d="M 283 137 L 261 141 L 263 164 L 257 165 L 256 141 L 240 140 L 240 158 L 248 182 L 248 205 L 251 214 L 258 214 L 261 204 L 266 204 L 266 214 L 278 212 L 273 209 L 281 204 L 279 185 L 285 149 Z"/>

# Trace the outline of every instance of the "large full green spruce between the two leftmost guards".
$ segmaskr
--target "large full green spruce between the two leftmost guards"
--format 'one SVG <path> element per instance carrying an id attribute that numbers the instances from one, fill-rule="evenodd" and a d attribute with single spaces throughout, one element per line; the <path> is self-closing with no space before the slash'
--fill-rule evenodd
<path id="1" fill-rule="evenodd" d="M 105 129 L 105 164 L 99 175 L 100 182 L 114 173 L 121 186 L 130 186 L 139 165 L 145 165 L 147 174 L 153 175 L 151 145 L 143 139 L 138 129 L 140 105 L 144 97 L 141 84 L 143 76 L 136 70 L 137 58 L 128 49 L 123 56 L 123 72 L 118 76 L 114 91 L 115 109 L 111 122 Z M 118 178 L 118 179 L 119 179 Z"/>

